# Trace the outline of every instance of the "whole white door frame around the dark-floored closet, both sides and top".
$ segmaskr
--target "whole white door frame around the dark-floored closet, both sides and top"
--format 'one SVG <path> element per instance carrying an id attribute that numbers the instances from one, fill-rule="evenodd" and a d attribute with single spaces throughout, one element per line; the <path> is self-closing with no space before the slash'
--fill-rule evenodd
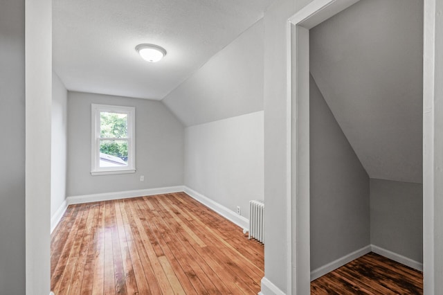
<path id="1" fill-rule="evenodd" d="M 287 93 L 290 102 L 288 111 L 291 113 L 291 126 L 288 131 L 291 138 L 291 194 L 287 204 L 291 204 L 291 231 L 288 231 L 291 241 L 291 249 L 288 251 L 291 257 L 291 287 L 288 288 L 288 293 L 291 290 L 291 294 L 310 293 L 309 29 L 357 1 L 359 0 L 314 0 L 288 19 Z M 443 238 L 434 238 L 436 232 L 443 233 L 443 222 L 438 224 L 434 220 L 435 212 L 443 212 L 443 198 L 437 197 L 439 193 L 440 196 L 443 195 L 443 185 L 437 186 L 434 181 L 439 176 L 434 170 L 434 167 L 437 167 L 435 152 L 440 154 L 440 161 L 443 163 L 443 152 L 440 152 L 443 150 L 443 135 L 439 135 L 441 141 L 435 141 L 438 133 L 434 132 L 436 117 L 440 118 L 434 109 L 434 102 L 437 100 L 434 93 L 435 6 L 435 0 L 424 0 L 424 294 L 437 294 L 435 292 L 441 292 L 443 288 L 443 283 L 435 279 L 435 274 L 443 271 L 442 256 L 437 254 L 438 249 L 442 249 Z M 443 107 L 440 112 L 443 115 Z M 440 120 L 440 123 L 443 123 L 443 118 Z M 438 174 L 442 177 L 443 172 Z M 443 181 L 440 180 L 440 183 Z M 440 190 L 439 193 L 437 189 Z M 435 217 L 437 216 L 435 214 Z"/>

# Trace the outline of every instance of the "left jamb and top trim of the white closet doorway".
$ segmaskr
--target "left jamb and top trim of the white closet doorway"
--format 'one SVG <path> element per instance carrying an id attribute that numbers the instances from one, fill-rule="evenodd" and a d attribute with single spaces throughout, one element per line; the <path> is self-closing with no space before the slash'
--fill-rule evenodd
<path id="1" fill-rule="evenodd" d="M 289 294 L 308 294 L 310 289 L 310 247 L 309 247 L 309 28 L 336 15 L 358 0 L 314 0 L 288 19 L 291 24 L 287 33 L 287 48 L 291 54 L 287 67 L 288 81 L 291 82 L 291 247 L 287 256 L 291 258 L 291 289 Z M 309 81 L 309 80 L 308 80 Z M 306 86 L 308 85 L 308 86 Z M 295 122 L 296 121 L 296 122 Z M 291 252 L 291 253 L 289 253 Z"/>

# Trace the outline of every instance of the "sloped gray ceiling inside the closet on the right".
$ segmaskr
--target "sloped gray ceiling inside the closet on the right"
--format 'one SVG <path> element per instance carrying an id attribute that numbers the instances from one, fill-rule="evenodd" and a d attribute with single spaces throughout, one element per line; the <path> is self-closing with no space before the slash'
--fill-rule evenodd
<path id="1" fill-rule="evenodd" d="M 310 70 L 370 178 L 422 183 L 423 1 L 361 0 L 310 31 Z"/>

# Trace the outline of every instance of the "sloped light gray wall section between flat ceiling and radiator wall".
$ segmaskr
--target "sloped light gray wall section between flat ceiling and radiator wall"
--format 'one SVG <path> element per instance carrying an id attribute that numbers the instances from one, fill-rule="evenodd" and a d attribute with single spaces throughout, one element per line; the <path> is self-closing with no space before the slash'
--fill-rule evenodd
<path id="1" fill-rule="evenodd" d="M 263 21 L 163 98 L 186 126 L 263 110 Z"/>

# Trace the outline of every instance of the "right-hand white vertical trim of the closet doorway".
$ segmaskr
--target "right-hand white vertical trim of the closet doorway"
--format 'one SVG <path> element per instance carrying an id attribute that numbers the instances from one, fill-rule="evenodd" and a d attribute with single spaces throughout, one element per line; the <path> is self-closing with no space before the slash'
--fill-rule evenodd
<path id="1" fill-rule="evenodd" d="M 443 292 L 442 10 L 442 1 L 424 0 L 423 291 L 425 295 Z"/>

